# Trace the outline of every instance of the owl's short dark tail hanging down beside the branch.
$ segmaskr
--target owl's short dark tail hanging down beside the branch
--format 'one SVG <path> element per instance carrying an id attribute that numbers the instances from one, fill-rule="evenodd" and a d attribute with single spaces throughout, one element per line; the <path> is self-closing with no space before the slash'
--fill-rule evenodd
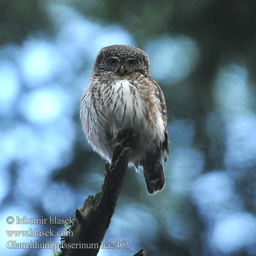
<path id="1" fill-rule="evenodd" d="M 143 165 L 143 174 L 149 195 L 154 195 L 163 189 L 165 177 L 161 159 L 157 160 L 156 163 L 151 162 L 151 164 Z"/>

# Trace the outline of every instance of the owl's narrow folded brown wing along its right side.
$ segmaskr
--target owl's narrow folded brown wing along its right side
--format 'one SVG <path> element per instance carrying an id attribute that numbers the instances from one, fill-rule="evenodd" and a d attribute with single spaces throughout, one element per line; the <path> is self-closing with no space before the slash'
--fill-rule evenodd
<path id="1" fill-rule="evenodd" d="M 163 91 L 161 90 L 159 84 L 157 83 L 156 80 L 154 80 L 152 77 L 149 77 L 152 81 L 152 83 L 155 85 L 154 90 L 158 93 L 156 93 L 160 99 L 160 105 L 161 105 L 161 114 L 163 116 L 163 121 L 164 121 L 164 141 L 162 145 L 162 150 L 164 152 L 163 155 L 163 160 L 166 162 L 167 160 L 167 155 L 169 155 L 169 137 L 168 137 L 168 132 L 167 132 L 167 111 L 166 111 L 166 102 L 164 99 Z"/>

